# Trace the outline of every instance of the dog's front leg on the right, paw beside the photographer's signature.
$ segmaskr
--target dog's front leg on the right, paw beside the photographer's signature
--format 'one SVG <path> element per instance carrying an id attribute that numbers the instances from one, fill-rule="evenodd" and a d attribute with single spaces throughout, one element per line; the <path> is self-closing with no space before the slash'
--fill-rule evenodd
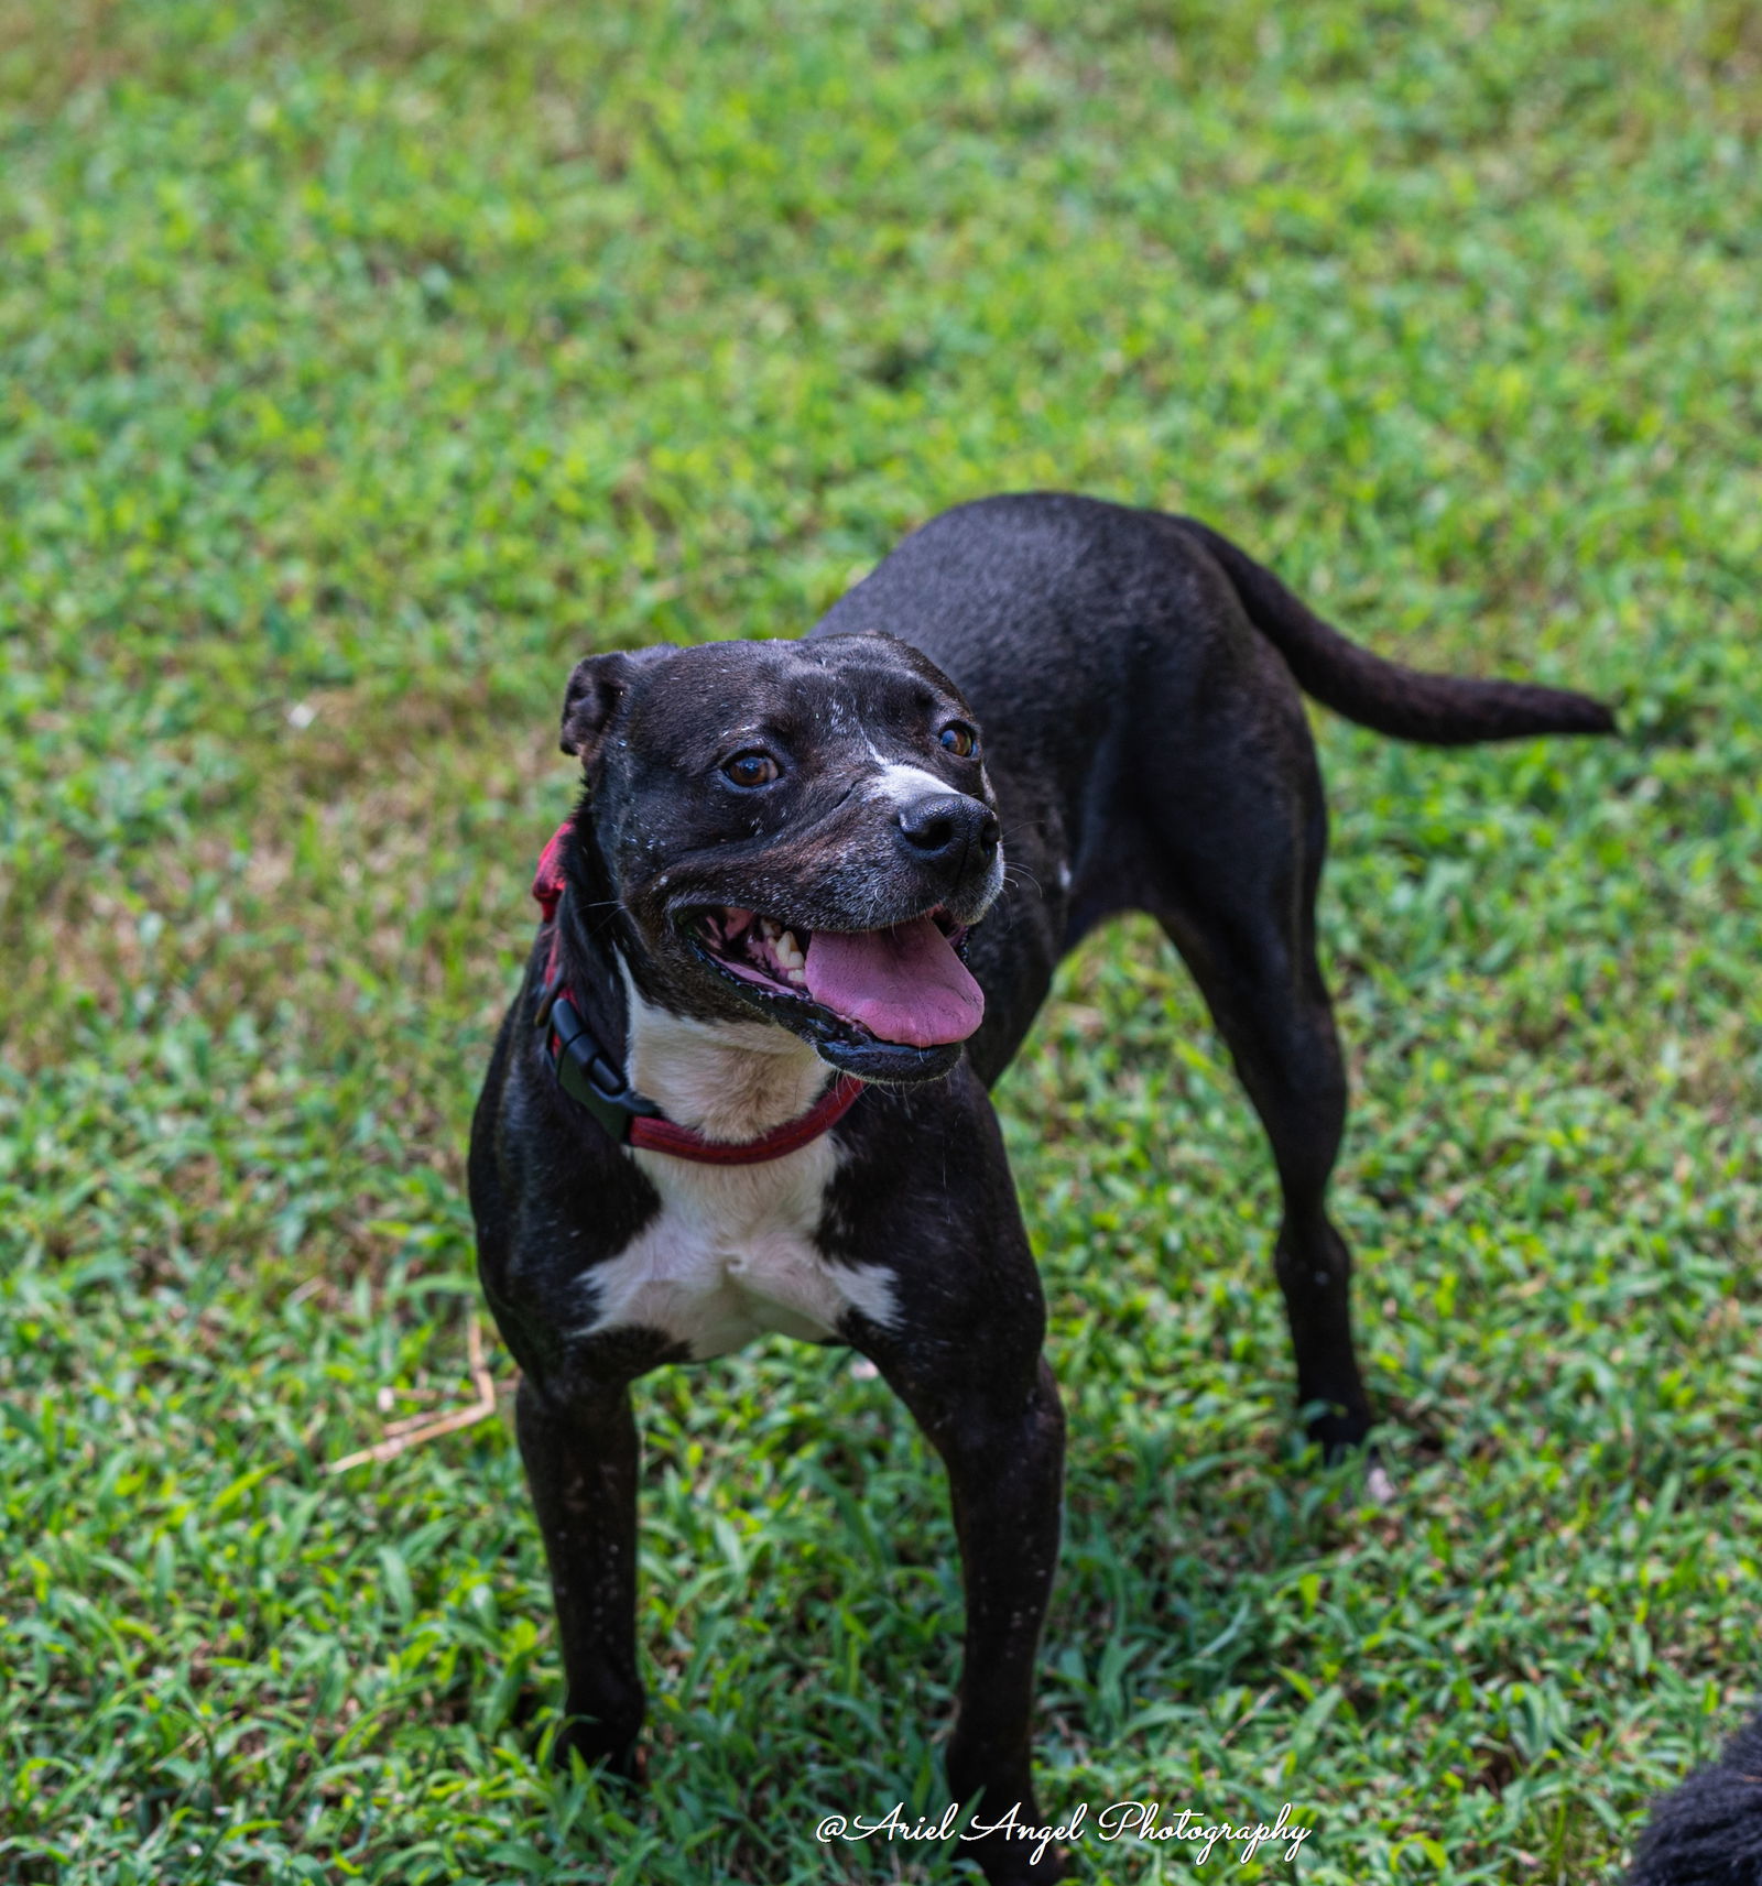
<path id="1" fill-rule="evenodd" d="M 951 1375 L 894 1362 L 889 1377 L 949 1471 L 966 1592 L 966 1658 L 949 1741 L 949 1788 L 977 1801 L 972 1846 L 992 1886 L 1043 1886 L 1062 1854 L 1039 1824 L 1030 1765 L 1034 1665 L 1058 1560 L 1064 1409 L 1041 1356 L 989 1371 L 972 1348 L 945 1348 Z M 1002 1824 L 1002 1826 L 1000 1826 Z"/>

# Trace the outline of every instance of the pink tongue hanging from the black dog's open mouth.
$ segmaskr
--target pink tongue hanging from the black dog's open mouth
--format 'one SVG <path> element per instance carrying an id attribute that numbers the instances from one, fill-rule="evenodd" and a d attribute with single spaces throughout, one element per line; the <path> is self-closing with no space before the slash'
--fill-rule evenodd
<path id="1" fill-rule="evenodd" d="M 815 930 L 804 983 L 836 1015 L 913 1049 L 966 1041 L 985 1020 L 985 992 L 930 917 L 892 930 Z"/>

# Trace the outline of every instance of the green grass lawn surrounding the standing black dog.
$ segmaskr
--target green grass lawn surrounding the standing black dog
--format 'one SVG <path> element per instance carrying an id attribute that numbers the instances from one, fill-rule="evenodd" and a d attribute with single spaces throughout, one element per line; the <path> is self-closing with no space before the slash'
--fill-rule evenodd
<path id="1" fill-rule="evenodd" d="M 1043 1803 L 1617 1877 L 1762 1641 L 1758 98 L 1741 0 L 0 4 L 0 1877 L 945 1877 L 813 1839 L 939 1805 L 960 1622 L 845 1358 L 641 1390 L 640 1805 L 547 1773 L 506 1428 L 323 1465 L 470 1394 L 568 664 L 794 634 L 1034 485 L 1626 728 L 1319 724 L 1394 1511 L 1294 1447 L 1268 1162 L 1149 932 L 1009 1075 Z"/>

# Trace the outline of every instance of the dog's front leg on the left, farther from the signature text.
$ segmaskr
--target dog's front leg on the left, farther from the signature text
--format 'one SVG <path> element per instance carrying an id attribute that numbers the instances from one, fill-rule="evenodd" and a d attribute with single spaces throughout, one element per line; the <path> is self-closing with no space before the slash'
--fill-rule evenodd
<path id="1" fill-rule="evenodd" d="M 624 1382 L 568 1398 L 521 1381 L 521 1458 L 545 1539 L 568 1722 L 557 1760 L 579 1752 L 628 1780 L 643 1686 L 636 1671 L 636 1416 Z"/>

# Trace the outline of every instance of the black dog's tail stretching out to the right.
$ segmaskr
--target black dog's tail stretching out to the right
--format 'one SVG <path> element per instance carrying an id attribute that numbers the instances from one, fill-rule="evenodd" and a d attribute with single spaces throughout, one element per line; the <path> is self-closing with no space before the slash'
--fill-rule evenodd
<path id="1" fill-rule="evenodd" d="M 1424 675 L 1360 649 L 1290 594 L 1228 538 L 1179 519 L 1222 566 L 1249 620 L 1285 656 L 1298 687 L 1347 720 L 1432 747 L 1468 747 L 1526 734 L 1613 734 L 1615 715 L 1588 694 L 1526 681 Z"/>

